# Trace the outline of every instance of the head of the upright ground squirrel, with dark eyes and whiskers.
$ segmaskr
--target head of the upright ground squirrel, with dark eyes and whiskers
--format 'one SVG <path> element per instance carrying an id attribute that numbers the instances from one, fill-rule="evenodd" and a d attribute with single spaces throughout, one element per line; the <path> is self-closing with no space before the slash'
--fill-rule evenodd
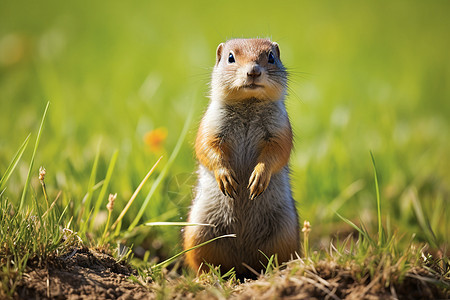
<path id="1" fill-rule="evenodd" d="M 216 51 L 211 97 L 226 103 L 258 99 L 284 99 L 287 72 L 280 48 L 269 39 L 233 39 Z"/>

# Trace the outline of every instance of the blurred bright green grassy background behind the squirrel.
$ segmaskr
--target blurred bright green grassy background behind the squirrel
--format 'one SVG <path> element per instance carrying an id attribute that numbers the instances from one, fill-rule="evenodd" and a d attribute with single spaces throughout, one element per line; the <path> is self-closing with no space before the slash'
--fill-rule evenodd
<path id="1" fill-rule="evenodd" d="M 108 191 L 118 193 L 117 217 L 161 154 L 156 173 L 164 168 L 192 109 L 187 137 L 141 222 L 185 220 L 215 49 L 229 38 L 269 37 L 290 71 L 292 185 L 316 244 L 349 232 L 334 211 L 375 224 L 372 151 L 388 229 L 427 241 L 428 220 L 445 245 L 449 13 L 448 1 L 2 1 L 0 174 L 30 132 L 34 143 L 50 101 L 31 194 L 41 197 L 43 165 L 50 197 L 61 190 L 59 205 L 72 203 L 76 216 L 98 147 L 97 181 L 118 149 Z M 4 193 L 13 202 L 31 151 Z M 161 256 L 180 246 L 179 228 L 140 227 L 133 235 L 128 243 Z"/>

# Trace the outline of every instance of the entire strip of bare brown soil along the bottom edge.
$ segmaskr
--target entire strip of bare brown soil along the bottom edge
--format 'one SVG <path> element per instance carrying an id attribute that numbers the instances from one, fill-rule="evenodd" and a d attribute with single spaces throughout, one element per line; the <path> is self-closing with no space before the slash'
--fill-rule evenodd
<path id="1" fill-rule="evenodd" d="M 385 287 L 380 281 L 354 277 L 351 267 L 322 261 L 312 268 L 291 264 L 272 276 L 232 287 L 234 299 L 448 299 L 450 291 L 431 283 L 429 271 L 418 268 L 401 282 Z M 46 263 L 31 262 L 16 290 L 17 299 L 154 299 L 158 288 L 134 282 L 135 271 L 111 256 L 79 249 Z M 376 277 L 376 276 L 375 276 Z M 180 277 L 181 278 L 181 277 Z M 427 280 L 424 280 L 427 278 Z M 218 299 L 220 285 L 192 292 L 182 280 L 169 280 L 164 298 Z M 159 295 L 161 296 L 161 294 Z"/>

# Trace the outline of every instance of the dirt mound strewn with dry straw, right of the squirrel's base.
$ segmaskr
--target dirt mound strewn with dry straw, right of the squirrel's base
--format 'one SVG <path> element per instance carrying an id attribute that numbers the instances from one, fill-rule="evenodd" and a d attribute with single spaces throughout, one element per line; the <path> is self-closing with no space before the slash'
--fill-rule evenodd
<path id="1" fill-rule="evenodd" d="M 295 264 L 274 277 L 241 284 L 237 299 L 448 299 L 450 293 L 439 289 L 432 274 L 417 268 L 402 281 L 386 286 L 381 274 L 357 279 L 352 267 L 321 261 L 314 268 L 295 271 Z"/>

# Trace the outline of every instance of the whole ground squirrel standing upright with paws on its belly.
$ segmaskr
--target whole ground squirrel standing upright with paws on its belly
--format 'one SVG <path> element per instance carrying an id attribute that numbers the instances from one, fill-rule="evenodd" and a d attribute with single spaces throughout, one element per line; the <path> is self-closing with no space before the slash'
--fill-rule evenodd
<path id="1" fill-rule="evenodd" d="M 286 87 L 277 43 L 233 39 L 217 47 L 211 101 L 195 142 L 198 184 L 188 218 L 213 227 L 187 226 L 184 249 L 224 234 L 236 237 L 187 252 L 195 271 L 208 271 L 206 262 L 252 277 L 245 264 L 259 272 L 264 255 L 277 254 L 282 263 L 299 249 Z"/>

